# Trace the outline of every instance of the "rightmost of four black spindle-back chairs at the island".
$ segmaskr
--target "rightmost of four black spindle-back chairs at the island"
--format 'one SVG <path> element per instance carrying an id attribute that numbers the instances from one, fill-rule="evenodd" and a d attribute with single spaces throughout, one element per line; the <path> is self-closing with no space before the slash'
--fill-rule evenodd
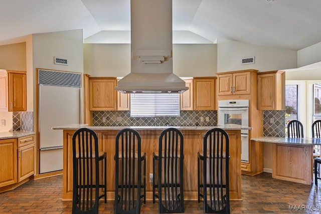
<path id="1" fill-rule="evenodd" d="M 198 202 L 202 197 L 205 213 L 230 213 L 229 158 L 229 135 L 220 128 L 207 131 L 197 160 Z"/>

